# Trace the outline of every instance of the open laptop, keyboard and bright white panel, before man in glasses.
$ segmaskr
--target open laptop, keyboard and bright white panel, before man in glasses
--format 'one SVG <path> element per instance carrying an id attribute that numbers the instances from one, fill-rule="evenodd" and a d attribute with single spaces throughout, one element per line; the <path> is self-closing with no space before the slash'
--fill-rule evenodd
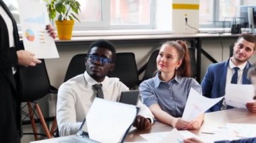
<path id="1" fill-rule="evenodd" d="M 102 107 L 104 107 L 104 109 L 106 109 L 106 107 L 109 107 L 111 110 L 109 110 L 109 111 L 108 110 L 102 110 L 101 109 Z M 115 118 L 112 120 L 111 117 L 104 116 L 105 120 L 103 118 L 98 118 L 98 119 L 102 119 L 104 121 L 108 121 L 108 123 L 110 123 L 109 118 L 113 122 L 115 122 L 115 120 L 120 119 L 120 118 L 123 120 L 123 117 L 125 117 L 125 116 L 122 115 L 122 113 L 120 113 L 120 115 L 117 115 L 116 113 L 117 112 L 119 113 L 120 109 L 121 109 L 121 111 L 123 111 L 124 109 L 128 109 L 128 111 L 130 111 L 129 113 L 135 113 L 135 114 L 131 115 L 130 118 L 129 117 L 128 118 L 125 117 L 125 119 L 128 119 L 129 120 L 128 122 L 133 122 L 133 120 L 135 119 L 134 117 L 137 116 L 137 113 L 139 111 L 139 107 L 135 107 L 135 112 L 134 112 L 134 108 L 133 107 L 135 107 L 135 106 L 125 105 L 125 104 L 121 104 L 121 103 L 118 103 L 118 102 L 115 102 L 115 101 L 108 101 L 108 100 L 96 98 L 96 99 L 94 99 L 94 102 L 92 103 L 92 107 L 90 108 L 90 111 L 88 112 L 88 115 L 86 115 L 87 123 L 90 123 L 89 124 L 90 126 L 88 126 L 86 124 L 86 119 L 84 119 L 84 121 L 82 122 L 82 125 L 80 126 L 80 128 L 79 128 L 79 130 L 77 132 L 77 134 L 75 134 L 75 135 L 64 136 L 64 137 L 59 137 L 59 138 L 53 138 L 53 139 L 49 139 L 49 140 L 40 140 L 40 141 L 36 141 L 36 142 L 33 142 L 33 143 L 46 143 L 46 142 L 47 143 L 52 143 L 52 142 L 78 142 L 78 143 L 79 142 L 88 142 L 88 143 L 97 143 L 96 140 L 90 139 L 89 135 L 88 135 L 89 127 L 91 127 L 90 131 L 92 131 L 92 124 L 96 123 L 96 122 L 94 122 L 94 123 L 92 122 L 92 121 L 95 121 L 94 118 L 98 117 L 98 115 L 102 116 L 102 114 L 107 112 L 108 114 L 110 114 L 111 117 L 116 115 Z M 102 112 L 104 112 L 104 113 L 102 113 Z M 100 114 L 98 114 L 98 113 L 100 113 Z M 113 114 L 115 114 L 115 115 L 113 115 Z M 101 124 L 102 123 L 103 122 L 101 122 Z M 127 121 L 124 122 L 124 123 L 126 124 Z M 102 126 L 101 124 L 97 124 L 97 125 Z M 113 124 L 113 123 L 110 123 L 110 125 L 111 124 Z M 115 124 L 116 124 L 116 122 L 115 122 Z M 106 124 L 104 124 L 104 125 L 106 125 Z M 115 138 L 115 139 L 118 139 L 119 142 L 124 142 L 125 137 L 127 136 L 127 133 L 129 132 L 129 129 L 132 126 L 132 123 L 128 124 L 128 125 L 126 124 L 124 126 L 128 126 L 128 128 L 126 128 L 125 132 L 123 134 L 121 134 L 120 140 L 119 140 L 119 138 Z M 96 127 L 96 126 L 94 126 L 94 127 Z M 106 127 L 107 126 L 102 126 L 102 128 L 106 128 Z M 94 129 L 94 131 L 98 130 L 98 128 L 93 128 L 93 129 Z M 118 130 L 118 129 L 119 128 L 115 128 L 115 131 L 116 132 L 118 131 L 120 133 L 120 130 Z M 112 129 L 108 128 L 108 130 L 113 130 L 113 128 Z M 103 130 L 103 132 L 104 132 L 104 130 Z M 94 138 L 95 138 L 95 135 L 96 135 L 95 133 L 96 132 L 94 132 L 94 134 L 93 134 Z M 92 134 L 90 136 L 92 136 Z M 98 135 L 96 135 L 96 136 L 98 136 Z M 117 137 L 119 137 L 119 136 L 117 136 Z M 102 140 L 103 138 L 102 138 L 102 136 L 101 137 L 99 136 L 98 139 Z"/>

